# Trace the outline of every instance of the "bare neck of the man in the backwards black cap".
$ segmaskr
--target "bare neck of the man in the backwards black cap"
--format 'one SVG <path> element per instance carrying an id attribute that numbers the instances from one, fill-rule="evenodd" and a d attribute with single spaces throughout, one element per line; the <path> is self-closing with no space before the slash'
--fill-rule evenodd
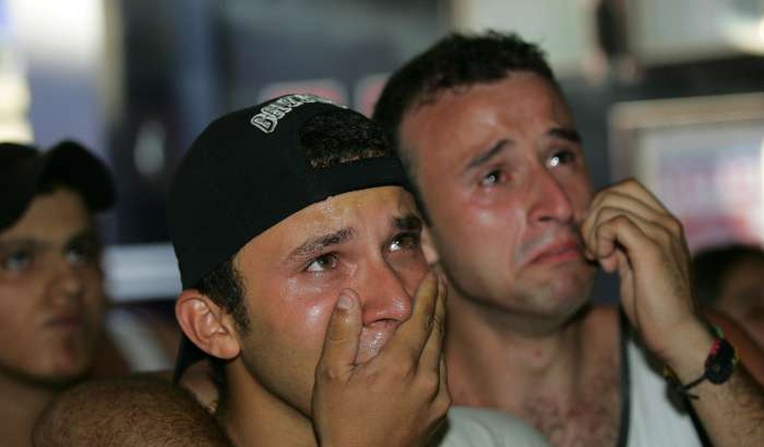
<path id="1" fill-rule="evenodd" d="M 217 415 L 234 444 L 316 447 L 309 418 L 267 391 L 244 370 L 240 360 L 237 362 L 228 365 L 239 371 L 226 375 L 227 397 Z"/>

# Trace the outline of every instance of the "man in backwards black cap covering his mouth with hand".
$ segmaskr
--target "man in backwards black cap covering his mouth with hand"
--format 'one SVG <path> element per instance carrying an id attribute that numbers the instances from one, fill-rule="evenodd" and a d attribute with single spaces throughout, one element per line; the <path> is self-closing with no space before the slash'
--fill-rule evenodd
<path id="1" fill-rule="evenodd" d="M 408 187 L 372 121 L 312 95 L 226 114 L 186 152 L 168 204 L 187 337 L 177 372 L 210 358 L 209 407 L 232 444 L 545 445 L 487 410 L 455 410 L 442 425 L 446 288 L 429 272 Z M 38 447 L 199 445 L 193 433 L 136 429 L 173 414 L 188 423 L 187 396 L 162 394 L 166 405 L 146 413 L 140 403 L 161 387 L 125 383 L 66 394 Z M 99 402 L 116 388 L 116 402 Z"/>

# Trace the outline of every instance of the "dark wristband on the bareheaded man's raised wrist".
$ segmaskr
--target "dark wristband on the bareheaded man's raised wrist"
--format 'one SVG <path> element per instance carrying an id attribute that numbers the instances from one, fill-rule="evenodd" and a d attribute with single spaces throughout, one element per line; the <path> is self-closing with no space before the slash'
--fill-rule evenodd
<path id="1" fill-rule="evenodd" d="M 669 384 L 672 385 L 672 388 L 678 394 L 698 399 L 697 395 L 688 393 L 691 388 L 694 388 L 704 380 L 708 380 L 712 384 L 723 384 L 730 379 L 738 362 L 740 362 L 735 348 L 724 338 L 724 333 L 721 332 L 718 326 L 712 326 L 712 328 L 714 330 L 714 344 L 711 345 L 711 351 L 708 352 L 704 362 L 704 371 L 701 377 L 683 385 L 669 367 L 664 368 L 663 375 L 669 380 Z"/>

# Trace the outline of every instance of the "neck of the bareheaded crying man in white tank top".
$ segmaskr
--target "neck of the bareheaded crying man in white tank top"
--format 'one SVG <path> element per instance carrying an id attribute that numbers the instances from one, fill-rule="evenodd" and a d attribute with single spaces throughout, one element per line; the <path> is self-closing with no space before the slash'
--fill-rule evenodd
<path id="1" fill-rule="evenodd" d="M 516 413 L 525 393 L 569 394 L 582 370 L 584 312 L 529 325 L 529 316 L 448 297 L 448 382 L 455 404 Z M 528 330 L 530 326 L 542 330 Z"/>

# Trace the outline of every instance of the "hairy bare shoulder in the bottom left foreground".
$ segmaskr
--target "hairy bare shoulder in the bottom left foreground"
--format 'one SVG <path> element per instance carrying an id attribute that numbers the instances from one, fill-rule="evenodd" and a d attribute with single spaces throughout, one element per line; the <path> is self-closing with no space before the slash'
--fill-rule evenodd
<path id="1" fill-rule="evenodd" d="M 89 381 L 40 416 L 35 447 L 231 447 L 215 419 L 170 382 L 149 375 Z"/>

